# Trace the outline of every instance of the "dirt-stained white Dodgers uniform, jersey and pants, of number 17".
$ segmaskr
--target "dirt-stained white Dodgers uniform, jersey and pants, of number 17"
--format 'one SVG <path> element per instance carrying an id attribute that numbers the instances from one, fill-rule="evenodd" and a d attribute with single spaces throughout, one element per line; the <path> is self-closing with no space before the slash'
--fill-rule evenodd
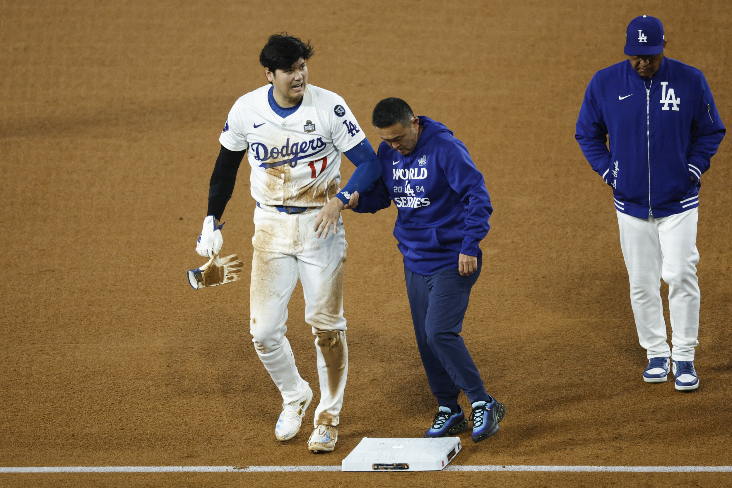
<path id="1" fill-rule="evenodd" d="M 287 304 L 297 279 L 305 295 L 305 321 L 315 335 L 321 400 L 315 426 L 338 424 L 348 374 L 343 266 L 346 237 L 317 239 L 319 209 L 339 191 L 341 153 L 365 139 L 341 97 L 307 85 L 302 102 L 276 105 L 272 87 L 251 91 L 234 103 L 221 145 L 247 151 L 251 193 L 257 202 L 252 239 L 250 333 L 255 350 L 285 403 L 312 393 L 297 367 L 285 333 Z M 309 397 L 310 395 L 310 397 Z"/>

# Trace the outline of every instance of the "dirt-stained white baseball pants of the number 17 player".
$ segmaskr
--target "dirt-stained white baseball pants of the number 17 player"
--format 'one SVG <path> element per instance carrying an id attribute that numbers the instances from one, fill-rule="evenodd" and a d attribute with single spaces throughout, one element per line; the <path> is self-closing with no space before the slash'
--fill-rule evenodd
<path id="1" fill-rule="evenodd" d="M 343 221 L 327 239 L 313 231 L 319 209 L 285 214 L 269 206 L 254 212 L 250 334 L 255 350 L 285 402 L 305 398 L 308 383 L 297 367 L 285 333 L 287 304 L 297 284 L 305 295 L 305 322 L 313 329 L 321 399 L 313 424 L 337 425 L 348 375 L 343 318 Z"/>

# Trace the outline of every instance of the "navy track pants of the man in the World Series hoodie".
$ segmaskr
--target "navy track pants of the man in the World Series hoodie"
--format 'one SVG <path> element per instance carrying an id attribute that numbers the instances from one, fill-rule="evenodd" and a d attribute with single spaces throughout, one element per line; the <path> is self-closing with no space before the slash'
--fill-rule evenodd
<path id="1" fill-rule="evenodd" d="M 441 407 L 455 408 L 460 390 L 471 403 L 488 402 L 483 380 L 460 337 L 470 290 L 478 279 L 482 259 L 473 274 L 462 277 L 457 268 L 423 276 L 404 268 L 419 356 L 432 394 Z"/>

